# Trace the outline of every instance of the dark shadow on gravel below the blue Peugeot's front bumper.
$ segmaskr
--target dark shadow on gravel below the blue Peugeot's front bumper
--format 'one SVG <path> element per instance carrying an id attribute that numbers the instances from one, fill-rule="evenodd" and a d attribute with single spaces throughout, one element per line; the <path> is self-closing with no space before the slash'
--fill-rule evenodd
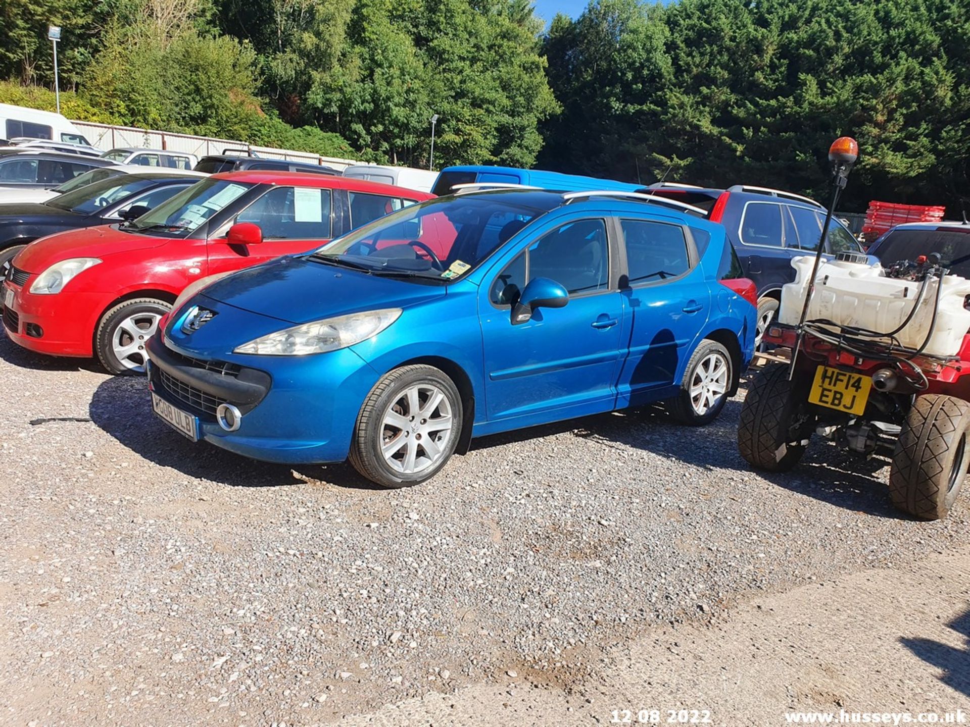
<path id="1" fill-rule="evenodd" d="M 194 443 L 167 427 L 151 411 L 145 379 L 113 376 L 95 390 L 91 421 L 139 457 L 171 467 L 187 477 L 230 487 L 264 488 L 323 481 L 340 488 L 378 490 L 345 464 L 300 466 L 240 457 L 207 442 Z"/>

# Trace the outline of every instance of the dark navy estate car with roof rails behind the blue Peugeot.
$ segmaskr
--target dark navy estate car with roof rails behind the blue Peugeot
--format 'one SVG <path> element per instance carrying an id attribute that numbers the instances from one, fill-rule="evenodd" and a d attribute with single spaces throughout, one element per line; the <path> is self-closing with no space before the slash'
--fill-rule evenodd
<path id="1" fill-rule="evenodd" d="M 814 255 L 822 238 L 823 205 L 792 192 L 766 187 L 735 185 L 727 189 L 695 187 L 664 182 L 642 191 L 707 210 L 707 219 L 725 226 L 746 277 L 758 287 L 758 333 L 761 335 L 778 313 L 782 286 L 794 280 L 792 258 Z M 861 252 L 852 233 L 832 219 L 825 253 Z"/>

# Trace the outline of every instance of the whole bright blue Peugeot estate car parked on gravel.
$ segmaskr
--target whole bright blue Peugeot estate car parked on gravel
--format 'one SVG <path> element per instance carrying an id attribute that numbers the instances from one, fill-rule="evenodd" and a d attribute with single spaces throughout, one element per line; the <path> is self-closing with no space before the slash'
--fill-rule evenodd
<path id="1" fill-rule="evenodd" d="M 751 360 L 755 288 L 698 212 L 532 189 L 404 207 L 186 290 L 147 344 L 154 411 L 251 458 L 349 458 L 389 488 L 473 436 L 658 400 L 707 424 Z"/>

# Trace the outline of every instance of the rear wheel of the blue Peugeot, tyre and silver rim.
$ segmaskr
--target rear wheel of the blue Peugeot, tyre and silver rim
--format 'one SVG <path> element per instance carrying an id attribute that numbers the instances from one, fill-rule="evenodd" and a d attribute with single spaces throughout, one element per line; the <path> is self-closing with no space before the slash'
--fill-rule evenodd
<path id="1" fill-rule="evenodd" d="M 687 363 L 680 392 L 668 401 L 674 419 L 688 427 L 710 424 L 727 402 L 734 364 L 727 348 L 705 338 Z"/>

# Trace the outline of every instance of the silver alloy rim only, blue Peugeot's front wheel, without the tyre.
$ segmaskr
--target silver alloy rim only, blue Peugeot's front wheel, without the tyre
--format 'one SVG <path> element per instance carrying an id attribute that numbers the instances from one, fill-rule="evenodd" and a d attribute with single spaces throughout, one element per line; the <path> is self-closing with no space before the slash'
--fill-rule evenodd
<path id="1" fill-rule="evenodd" d="M 435 466 L 448 448 L 451 418 L 451 402 L 436 386 L 407 387 L 388 407 L 380 425 L 384 460 L 402 474 Z"/>

